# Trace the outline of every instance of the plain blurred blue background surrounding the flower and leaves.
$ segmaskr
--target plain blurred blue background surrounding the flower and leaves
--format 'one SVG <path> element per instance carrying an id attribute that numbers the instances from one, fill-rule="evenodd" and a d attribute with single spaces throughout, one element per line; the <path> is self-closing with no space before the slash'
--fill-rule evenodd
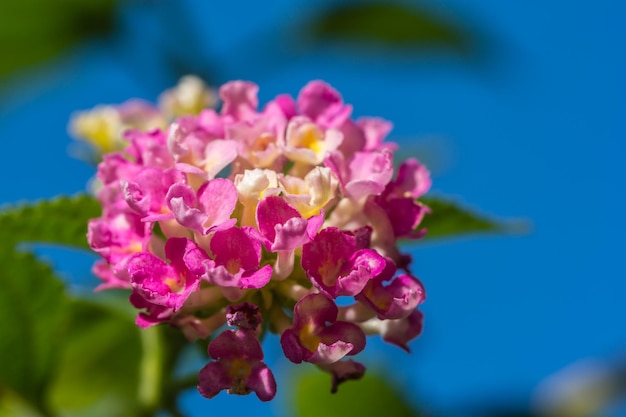
<path id="1" fill-rule="evenodd" d="M 624 359 L 626 3 L 422 2 L 481 34 L 475 59 L 305 49 L 293 41 L 298 19 L 331 1 L 243 3 L 127 3 L 112 39 L 12 78 L 0 101 L 0 202 L 83 191 L 93 169 L 68 156 L 70 114 L 155 100 L 176 81 L 164 65 L 172 54 L 190 70 L 210 68 L 216 83 L 255 81 L 261 103 L 324 79 L 355 115 L 393 121 L 390 138 L 431 166 L 434 193 L 531 224 L 518 236 L 411 246 L 428 292 L 425 333 L 411 355 L 373 341 L 363 358 L 370 367 L 388 370 L 416 403 L 462 414 L 493 402 L 526 406 L 544 378 L 578 360 Z M 173 19 L 184 30 L 169 31 Z M 94 284 L 92 257 L 40 252 L 76 287 Z M 278 401 L 207 402 L 192 392 L 190 415 L 288 415 L 282 373 L 292 368 L 268 342 Z"/>

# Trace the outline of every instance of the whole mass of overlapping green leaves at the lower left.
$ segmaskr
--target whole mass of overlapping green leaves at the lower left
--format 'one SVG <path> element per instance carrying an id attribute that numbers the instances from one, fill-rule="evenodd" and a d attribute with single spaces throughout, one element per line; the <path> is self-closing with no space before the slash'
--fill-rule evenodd
<path id="1" fill-rule="evenodd" d="M 87 249 L 87 221 L 99 213 L 95 199 L 82 195 L 0 214 L 0 416 L 123 416 L 137 401 L 133 315 L 72 298 L 50 266 L 17 247 Z M 103 401 L 98 414 L 93 407 Z"/>

